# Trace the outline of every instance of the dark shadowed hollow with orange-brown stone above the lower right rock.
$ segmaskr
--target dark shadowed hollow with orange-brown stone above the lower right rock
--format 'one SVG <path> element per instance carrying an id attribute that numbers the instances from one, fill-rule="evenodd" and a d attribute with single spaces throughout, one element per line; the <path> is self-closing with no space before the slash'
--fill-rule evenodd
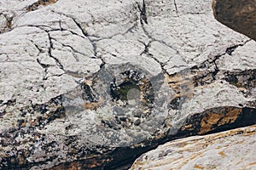
<path id="1" fill-rule="evenodd" d="M 255 124 L 255 110 L 251 108 L 217 107 L 195 114 L 178 130 L 180 137 L 216 133 Z"/>

